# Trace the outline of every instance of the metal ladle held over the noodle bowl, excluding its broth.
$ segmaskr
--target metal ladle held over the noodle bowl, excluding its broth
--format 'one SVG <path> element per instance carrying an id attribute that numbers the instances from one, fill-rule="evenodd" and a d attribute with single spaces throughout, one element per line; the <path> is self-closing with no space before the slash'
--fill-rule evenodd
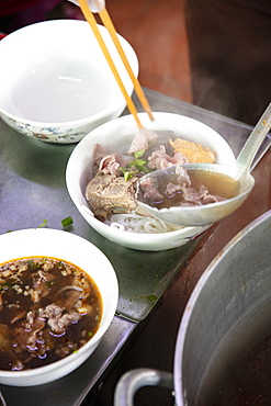
<path id="1" fill-rule="evenodd" d="M 204 171 L 216 172 L 230 177 L 233 181 L 239 182 L 239 192 L 230 199 L 221 202 L 194 205 L 194 206 L 171 206 L 169 208 L 153 207 L 144 202 L 140 193 L 140 182 L 146 179 L 151 179 L 153 183 L 158 187 L 167 184 L 174 167 L 160 169 L 145 174 L 138 182 L 137 203 L 148 214 L 154 217 L 163 219 L 167 223 L 180 226 L 202 226 L 221 221 L 236 211 L 244 201 L 248 198 L 255 185 L 255 179 L 250 174 L 253 158 L 259 150 L 266 135 L 271 126 L 271 103 L 262 114 L 258 124 L 253 128 L 246 144 L 244 145 L 235 167 L 216 165 L 216 163 L 187 163 L 183 167 L 188 172 Z"/>

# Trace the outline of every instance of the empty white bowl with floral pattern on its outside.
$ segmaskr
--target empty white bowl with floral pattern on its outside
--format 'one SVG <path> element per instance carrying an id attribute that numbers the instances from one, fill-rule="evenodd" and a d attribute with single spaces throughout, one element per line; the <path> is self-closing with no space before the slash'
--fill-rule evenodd
<path id="1" fill-rule="evenodd" d="M 102 37 L 129 94 L 133 83 L 104 26 Z M 132 46 L 120 42 L 138 75 Z M 0 42 L 0 114 L 15 131 L 48 143 L 77 143 L 126 106 L 86 21 L 54 20 L 20 29 Z"/>

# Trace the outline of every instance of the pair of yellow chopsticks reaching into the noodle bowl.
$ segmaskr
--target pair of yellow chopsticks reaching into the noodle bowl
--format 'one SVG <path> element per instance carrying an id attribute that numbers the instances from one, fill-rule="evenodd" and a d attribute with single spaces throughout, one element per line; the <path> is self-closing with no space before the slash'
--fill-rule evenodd
<path id="1" fill-rule="evenodd" d="M 116 82 L 117 82 L 117 84 L 118 84 L 118 87 L 120 87 L 120 89 L 121 89 L 121 91 L 122 91 L 122 93 L 123 93 L 123 95 L 125 98 L 125 101 L 127 103 L 127 108 L 128 108 L 131 114 L 133 114 L 138 128 L 143 128 L 142 122 L 140 122 L 138 115 L 137 115 L 136 106 L 135 106 L 133 100 L 131 99 L 131 97 L 128 95 L 128 93 L 127 93 L 127 91 L 125 89 L 125 86 L 124 86 L 124 83 L 123 83 L 123 81 L 122 81 L 122 79 L 120 77 L 120 74 L 118 74 L 118 71 L 117 71 L 117 69 L 115 67 L 115 64 L 114 64 L 111 55 L 110 55 L 110 52 L 109 52 L 109 49 L 108 49 L 108 47 L 106 47 L 106 45 L 105 45 L 105 43 L 103 41 L 103 37 L 102 37 L 101 33 L 100 33 L 99 26 L 98 26 L 97 21 L 95 21 L 95 18 L 94 18 L 92 11 L 90 10 L 87 0 L 78 0 L 78 2 L 79 2 L 79 5 L 81 8 L 81 11 L 82 11 L 82 13 L 84 15 L 84 19 L 90 24 L 90 26 L 91 26 L 91 29 L 92 29 L 92 31 L 93 31 L 93 33 L 95 35 L 95 38 L 97 38 L 97 41 L 98 41 L 98 43 L 99 43 L 99 45 L 100 45 L 100 47 L 101 47 L 101 49 L 102 49 L 102 52 L 103 52 L 106 60 L 108 60 L 108 64 L 109 64 L 112 72 L 113 72 L 113 75 L 114 75 L 114 77 L 116 79 Z M 123 64 L 124 64 L 124 66 L 125 66 L 125 68 L 127 70 L 127 72 L 129 75 L 129 78 L 131 78 L 131 80 L 132 80 L 132 82 L 134 84 L 134 89 L 135 89 L 135 92 L 136 92 L 136 94 L 138 97 L 138 100 L 140 101 L 140 103 L 142 103 L 145 112 L 148 114 L 149 119 L 151 121 L 154 121 L 155 119 L 153 116 L 153 113 L 151 113 L 151 109 L 149 106 L 149 103 L 148 103 L 148 101 L 147 101 L 147 99 L 146 99 L 146 97 L 144 94 L 144 91 L 143 91 L 143 89 L 140 87 L 139 81 L 137 80 L 137 78 L 135 77 L 135 75 L 134 75 L 134 72 L 133 72 L 133 70 L 131 68 L 131 65 L 128 63 L 128 59 L 127 59 L 127 57 L 126 57 L 126 55 L 125 55 L 125 53 L 123 50 L 123 47 L 122 47 L 122 45 L 120 43 L 120 40 L 118 40 L 117 34 L 116 34 L 116 31 L 115 31 L 115 27 L 114 27 L 114 25 L 112 23 L 112 20 L 110 18 L 106 9 L 103 8 L 102 11 L 99 12 L 99 15 L 100 15 L 100 18 L 102 20 L 103 25 L 108 29 L 108 31 L 109 31 L 109 33 L 111 35 L 111 38 L 113 40 L 113 43 L 114 43 L 114 45 L 115 45 L 115 47 L 116 47 L 116 49 L 117 49 L 117 52 L 118 52 L 118 54 L 120 54 L 120 56 L 122 58 L 122 61 L 123 61 Z"/>

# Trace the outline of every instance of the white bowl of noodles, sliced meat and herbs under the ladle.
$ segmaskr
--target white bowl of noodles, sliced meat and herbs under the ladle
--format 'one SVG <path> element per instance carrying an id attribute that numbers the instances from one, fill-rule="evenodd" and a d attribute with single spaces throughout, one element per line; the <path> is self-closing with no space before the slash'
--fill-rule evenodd
<path id="1" fill-rule="evenodd" d="M 127 248 L 159 251 L 180 247 L 210 226 L 180 227 L 138 211 L 136 185 L 148 170 L 188 162 L 235 165 L 226 140 L 213 128 L 183 115 L 139 113 L 101 125 L 74 149 L 67 189 L 80 214 L 98 233 Z"/>

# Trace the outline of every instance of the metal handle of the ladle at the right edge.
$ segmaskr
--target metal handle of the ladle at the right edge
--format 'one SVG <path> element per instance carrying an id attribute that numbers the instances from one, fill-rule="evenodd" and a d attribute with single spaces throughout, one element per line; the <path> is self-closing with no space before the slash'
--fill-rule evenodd
<path id="1" fill-rule="evenodd" d="M 266 135 L 268 134 L 271 126 L 271 103 L 258 121 L 252 133 L 248 137 L 244 145 L 238 158 L 236 160 L 238 167 L 244 171 L 250 171 L 250 167 L 255 159 L 258 149 L 260 148 Z"/>

